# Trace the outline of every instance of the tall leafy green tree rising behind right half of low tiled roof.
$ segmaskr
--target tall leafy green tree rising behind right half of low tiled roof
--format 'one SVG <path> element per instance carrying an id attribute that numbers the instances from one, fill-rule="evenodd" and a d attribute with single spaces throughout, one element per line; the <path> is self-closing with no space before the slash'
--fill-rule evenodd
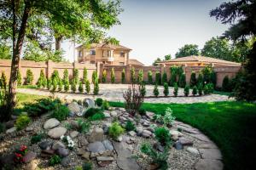
<path id="1" fill-rule="evenodd" d="M 216 59 L 233 61 L 228 39 L 212 37 L 201 50 L 201 55 Z"/>

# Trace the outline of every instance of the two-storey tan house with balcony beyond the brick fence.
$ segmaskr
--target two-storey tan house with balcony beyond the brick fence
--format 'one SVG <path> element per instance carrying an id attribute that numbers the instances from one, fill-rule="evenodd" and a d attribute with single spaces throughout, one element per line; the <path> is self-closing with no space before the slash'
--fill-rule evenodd
<path id="1" fill-rule="evenodd" d="M 83 45 L 77 48 L 79 63 L 96 64 L 101 62 L 105 65 L 128 65 L 131 48 L 108 42 L 92 43 L 90 47 Z"/>

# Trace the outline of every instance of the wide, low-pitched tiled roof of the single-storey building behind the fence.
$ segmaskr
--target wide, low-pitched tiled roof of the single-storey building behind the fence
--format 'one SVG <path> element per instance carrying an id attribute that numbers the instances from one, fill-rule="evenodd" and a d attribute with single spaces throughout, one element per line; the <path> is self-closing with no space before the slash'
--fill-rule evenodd
<path id="1" fill-rule="evenodd" d="M 203 62 L 203 63 L 212 63 L 212 64 L 222 64 L 222 65 L 241 65 L 240 63 L 231 62 L 223 59 L 215 59 L 211 57 L 204 56 L 195 56 L 191 55 L 188 57 L 181 57 L 177 59 L 170 59 L 166 61 L 160 61 L 159 63 L 177 63 L 177 62 Z"/>

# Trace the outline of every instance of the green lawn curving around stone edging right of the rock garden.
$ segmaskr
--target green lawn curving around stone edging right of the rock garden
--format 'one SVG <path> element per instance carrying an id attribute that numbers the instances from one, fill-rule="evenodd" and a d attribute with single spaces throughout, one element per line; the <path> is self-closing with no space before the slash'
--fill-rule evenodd
<path id="1" fill-rule="evenodd" d="M 123 103 L 110 102 L 112 106 Z M 256 105 L 242 102 L 198 104 L 143 104 L 143 109 L 162 114 L 171 107 L 178 121 L 197 127 L 223 154 L 224 169 L 251 169 L 256 154 Z"/>

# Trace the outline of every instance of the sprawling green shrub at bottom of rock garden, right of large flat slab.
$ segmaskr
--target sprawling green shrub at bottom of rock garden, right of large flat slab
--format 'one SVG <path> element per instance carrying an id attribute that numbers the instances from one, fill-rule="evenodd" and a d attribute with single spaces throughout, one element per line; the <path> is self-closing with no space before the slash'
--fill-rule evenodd
<path id="1" fill-rule="evenodd" d="M 152 163 L 158 165 L 158 169 L 163 169 L 163 170 L 168 169 L 168 162 L 167 162 L 169 157 L 168 147 L 165 147 L 164 152 L 160 152 L 160 151 L 154 150 L 154 148 L 150 144 L 144 143 L 142 144 L 140 150 L 141 152 L 143 152 L 143 154 L 146 154 L 151 161 L 153 161 Z"/>

